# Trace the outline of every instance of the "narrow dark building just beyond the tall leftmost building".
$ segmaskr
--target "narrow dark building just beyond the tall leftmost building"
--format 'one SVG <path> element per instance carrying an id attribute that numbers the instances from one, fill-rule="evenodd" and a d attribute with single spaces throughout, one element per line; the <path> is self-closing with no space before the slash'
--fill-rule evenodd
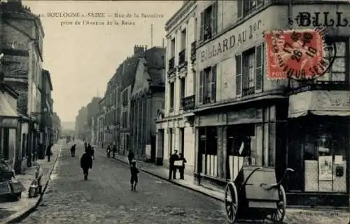
<path id="1" fill-rule="evenodd" d="M 41 77 L 41 122 L 40 122 L 40 142 L 38 158 L 45 158 L 45 149 L 52 143 L 50 137 L 52 137 L 52 83 L 50 72 L 48 70 L 42 70 Z"/>

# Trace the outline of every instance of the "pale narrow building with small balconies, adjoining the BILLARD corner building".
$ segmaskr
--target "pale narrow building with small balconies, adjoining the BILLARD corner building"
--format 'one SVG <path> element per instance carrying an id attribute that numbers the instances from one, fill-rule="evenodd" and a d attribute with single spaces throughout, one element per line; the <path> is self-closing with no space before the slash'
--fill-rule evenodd
<path id="1" fill-rule="evenodd" d="M 165 110 L 158 113 L 157 160 L 169 165 L 174 150 L 182 153 L 188 163 L 186 172 L 193 174 L 195 165 L 195 33 L 196 2 L 183 6 L 166 24 L 167 66 Z"/>

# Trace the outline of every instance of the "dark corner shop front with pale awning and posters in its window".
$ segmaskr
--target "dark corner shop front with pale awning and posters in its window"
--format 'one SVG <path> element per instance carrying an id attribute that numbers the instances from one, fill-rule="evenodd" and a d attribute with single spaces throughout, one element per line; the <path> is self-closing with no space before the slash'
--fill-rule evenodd
<path id="1" fill-rule="evenodd" d="M 289 204 L 349 204 L 350 91 L 304 91 L 288 108 Z"/>

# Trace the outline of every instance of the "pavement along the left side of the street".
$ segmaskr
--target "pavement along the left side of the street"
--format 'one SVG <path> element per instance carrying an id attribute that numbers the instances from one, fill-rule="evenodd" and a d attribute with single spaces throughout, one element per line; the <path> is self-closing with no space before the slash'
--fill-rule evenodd
<path id="1" fill-rule="evenodd" d="M 36 163 L 38 163 L 43 169 L 43 177 L 41 178 L 43 192 L 45 192 L 45 189 L 48 186 L 50 174 L 55 167 L 60 149 L 61 147 L 58 144 L 52 146 L 52 157 L 50 158 L 50 162 L 48 162 L 47 158 L 36 161 Z M 37 197 L 28 197 L 28 189 L 31 185 L 31 181 L 34 180 L 35 170 L 36 165 L 32 165 L 25 170 L 25 174 L 16 175 L 16 179 L 25 186 L 25 191 L 22 191 L 22 198 L 17 202 L 0 202 L 0 223 L 15 223 L 26 217 L 38 207 L 43 194 L 38 195 Z"/>

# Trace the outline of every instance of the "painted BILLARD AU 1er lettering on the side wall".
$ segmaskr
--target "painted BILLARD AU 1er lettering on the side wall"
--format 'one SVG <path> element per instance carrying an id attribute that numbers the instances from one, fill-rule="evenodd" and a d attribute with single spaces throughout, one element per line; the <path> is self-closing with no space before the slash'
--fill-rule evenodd
<path id="1" fill-rule="evenodd" d="M 246 43 L 247 40 L 253 38 L 256 32 L 260 32 L 262 27 L 262 21 L 258 20 L 247 26 L 247 29 L 237 33 L 237 29 L 225 33 L 223 36 L 218 37 L 216 40 L 207 44 L 204 50 L 200 51 L 200 62 L 207 61 L 208 59 L 218 57 L 225 51 L 231 50 L 238 45 Z"/>

